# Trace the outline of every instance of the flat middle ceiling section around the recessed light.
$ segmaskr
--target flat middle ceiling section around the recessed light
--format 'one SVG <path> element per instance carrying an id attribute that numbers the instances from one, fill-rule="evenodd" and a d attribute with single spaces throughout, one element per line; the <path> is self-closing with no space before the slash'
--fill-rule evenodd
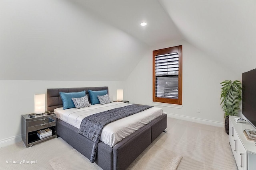
<path id="1" fill-rule="evenodd" d="M 158 0 L 73 0 L 149 46 L 182 39 Z M 145 27 L 140 23 L 146 22 Z"/>

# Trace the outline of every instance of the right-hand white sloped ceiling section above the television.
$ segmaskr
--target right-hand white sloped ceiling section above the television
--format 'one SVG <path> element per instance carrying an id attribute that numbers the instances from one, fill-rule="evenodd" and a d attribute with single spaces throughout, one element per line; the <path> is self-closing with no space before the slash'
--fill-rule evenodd
<path id="1" fill-rule="evenodd" d="M 184 39 L 230 70 L 256 68 L 255 0 L 159 0 Z"/>

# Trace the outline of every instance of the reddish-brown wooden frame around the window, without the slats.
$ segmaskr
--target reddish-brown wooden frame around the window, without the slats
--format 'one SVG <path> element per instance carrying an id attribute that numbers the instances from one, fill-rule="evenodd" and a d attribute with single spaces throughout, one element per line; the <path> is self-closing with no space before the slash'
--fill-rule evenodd
<path id="1" fill-rule="evenodd" d="M 178 99 L 158 98 L 156 97 L 156 56 L 176 52 L 179 53 Z M 153 51 L 153 102 L 182 105 L 182 45 Z"/>

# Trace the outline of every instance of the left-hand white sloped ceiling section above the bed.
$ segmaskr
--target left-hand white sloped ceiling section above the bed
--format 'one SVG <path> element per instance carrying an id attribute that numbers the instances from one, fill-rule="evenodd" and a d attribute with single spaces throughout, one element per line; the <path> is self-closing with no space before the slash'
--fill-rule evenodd
<path id="1" fill-rule="evenodd" d="M 0 1 L 0 80 L 126 80 L 148 46 L 72 0 Z"/>

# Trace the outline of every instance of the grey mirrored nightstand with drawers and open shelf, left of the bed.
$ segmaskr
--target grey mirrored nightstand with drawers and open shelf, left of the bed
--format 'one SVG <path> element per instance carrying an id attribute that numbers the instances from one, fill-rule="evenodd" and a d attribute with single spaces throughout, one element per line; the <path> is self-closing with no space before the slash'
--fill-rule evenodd
<path id="1" fill-rule="evenodd" d="M 22 115 L 21 126 L 22 140 L 24 141 L 26 147 L 31 147 L 34 144 L 57 137 L 56 114 L 52 112 L 33 118 L 28 117 L 28 115 Z M 37 136 L 37 131 L 46 128 L 52 130 L 52 136 L 40 139 Z"/>

